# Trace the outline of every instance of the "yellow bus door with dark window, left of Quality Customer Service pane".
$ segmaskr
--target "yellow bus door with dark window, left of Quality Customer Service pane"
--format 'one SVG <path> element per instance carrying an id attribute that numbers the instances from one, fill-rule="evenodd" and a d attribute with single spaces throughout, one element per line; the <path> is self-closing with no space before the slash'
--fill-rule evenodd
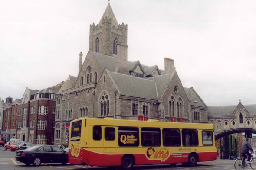
<path id="1" fill-rule="evenodd" d="M 105 153 L 115 153 L 116 152 L 116 132 L 115 127 L 111 126 L 103 126 L 104 130 L 104 149 L 103 152 Z"/>

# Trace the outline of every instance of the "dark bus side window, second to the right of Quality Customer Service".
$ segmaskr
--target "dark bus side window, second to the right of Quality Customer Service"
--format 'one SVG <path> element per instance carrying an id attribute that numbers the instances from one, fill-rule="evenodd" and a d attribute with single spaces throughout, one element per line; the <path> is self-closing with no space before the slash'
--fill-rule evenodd
<path id="1" fill-rule="evenodd" d="M 163 145 L 164 146 L 181 146 L 180 129 L 163 129 Z"/>

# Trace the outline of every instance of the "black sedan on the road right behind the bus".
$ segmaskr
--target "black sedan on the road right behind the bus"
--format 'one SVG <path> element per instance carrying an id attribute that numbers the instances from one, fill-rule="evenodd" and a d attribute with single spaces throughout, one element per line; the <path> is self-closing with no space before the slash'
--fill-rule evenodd
<path id="1" fill-rule="evenodd" d="M 68 163 L 68 153 L 53 145 L 37 145 L 16 152 L 16 160 L 26 165 L 39 166 L 41 163 Z"/>

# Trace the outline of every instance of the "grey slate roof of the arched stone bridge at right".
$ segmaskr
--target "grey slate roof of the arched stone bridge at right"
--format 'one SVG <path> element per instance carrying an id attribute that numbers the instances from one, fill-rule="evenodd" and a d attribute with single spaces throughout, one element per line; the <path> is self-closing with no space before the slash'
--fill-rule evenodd
<path id="1" fill-rule="evenodd" d="M 209 106 L 208 115 L 232 115 L 237 105 L 232 106 Z M 256 104 L 243 105 L 249 114 L 256 114 Z"/>

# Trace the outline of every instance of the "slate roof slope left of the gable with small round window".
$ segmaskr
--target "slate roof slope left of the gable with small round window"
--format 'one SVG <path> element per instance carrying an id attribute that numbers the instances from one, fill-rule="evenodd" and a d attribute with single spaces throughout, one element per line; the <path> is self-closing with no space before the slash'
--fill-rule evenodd
<path id="1" fill-rule="evenodd" d="M 148 80 L 153 80 L 157 84 L 158 88 L 158 97 L 161 98 L 164 94 L 165 89 L 169 85 L 171 78 L 173 77 L 175 72 L 171 74 L 165 74 L 165 75 L 160 75 L 156 77 L 149 77 Z"/>

